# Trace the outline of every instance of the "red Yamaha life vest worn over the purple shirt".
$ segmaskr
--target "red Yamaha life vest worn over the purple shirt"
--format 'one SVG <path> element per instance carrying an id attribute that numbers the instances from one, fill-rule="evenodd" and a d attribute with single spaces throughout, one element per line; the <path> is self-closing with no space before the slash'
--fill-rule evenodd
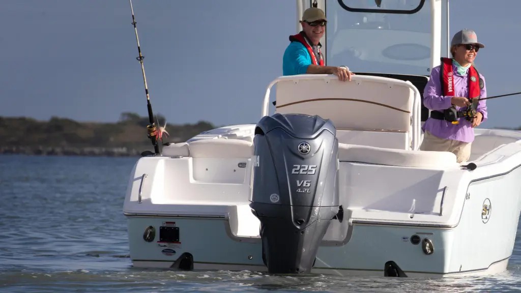
<path id="1" fill-rule="evenodd" d="M 452 67 L 452 59 L 451 58 L 441 58 L 441 69 L 442 72 L 440 74 L 441 79 L 441 90 L 443 91 L 443 95 L 454 96 L 454 74 Z M 481 89 L 480 89 L 480 80 L 479 74 L 474 66 L 470 65 L 468 68 L 468 98 L 474 99 L 475 97 L 480 97 Z"/>

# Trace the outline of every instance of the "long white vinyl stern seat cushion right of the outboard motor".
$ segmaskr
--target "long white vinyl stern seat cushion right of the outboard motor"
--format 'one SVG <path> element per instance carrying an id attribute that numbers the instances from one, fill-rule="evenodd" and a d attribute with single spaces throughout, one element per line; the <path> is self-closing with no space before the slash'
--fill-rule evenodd
<path id="1" fill-rule="evenodd" d="M 345 143 L 339 143 L 338 157 L 340 161 L 344 162 L 389 166 L 424 168 L 459 166 L 456 162 L 456 155 L 451 152 L 398 150 Z"/>

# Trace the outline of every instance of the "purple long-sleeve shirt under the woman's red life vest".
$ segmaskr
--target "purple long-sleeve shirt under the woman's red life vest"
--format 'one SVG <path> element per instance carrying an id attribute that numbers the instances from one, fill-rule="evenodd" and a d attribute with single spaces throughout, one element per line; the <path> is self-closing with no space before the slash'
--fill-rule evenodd
<path id="1" fill-rule="evenodd" d="M 431 109 L 443 112 L 444 109 L 448 109 L 452 106 L 451 98 L 453 96 L 443 96 L 440 82 L 440 67 L 436 66 L 432 68 L 430 73 L 429 81 L 425 86 L 424 90 L 424 105 Z M 464 96 L 468 97 L 468 76 L 460 75 L 457 73 L 457 68 L 453 66 L 454 70 L 454 94 L 455 96 Z M 468 71 L 467 71 L 468 72 Z M 480 92 L 480 97 L 487 97 L 487 87 L 485 86 L 485 78 L 480 74 L 479 75 L 483 80 L 483 88 Z M 476 81 L 478 82 L 478 81 Z M 483 119 L 481 123 L 487 120 L 487 100 L 481 100 L 478 103 L 477 112 L 481 112 L 483 115 Z M 458 111 L 462 109 L 461 107 L 457 107 Z M 432 135 L 437 136 L 439 138 L 444 139 L 453 139 L 464 142 L 472 142 L 474 141 L 474 129 L 472 128 L 472 123 L 467 121 L 465 118 L 459 119 L 459 124 L 452 124 L 446 120 L 438 120 L 434 118 L 427 119 L 425 121 L 424 126 L 421 128 L 424 131 L 429 131 Z"/>

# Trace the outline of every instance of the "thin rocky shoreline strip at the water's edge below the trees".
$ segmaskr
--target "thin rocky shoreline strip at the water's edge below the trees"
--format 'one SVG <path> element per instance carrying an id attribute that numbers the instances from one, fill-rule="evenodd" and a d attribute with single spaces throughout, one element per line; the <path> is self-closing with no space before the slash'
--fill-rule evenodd
<path id="1" fill-rule="evenodd" d="M 50 147 L 50 146 L 0 146 L 0 154 L 21 155 L 58 155 L 58 156 L 114 156 L 129 157 L 140 156 L 143 150 L 133 148 L 98 148 L 98 147 Z"/>

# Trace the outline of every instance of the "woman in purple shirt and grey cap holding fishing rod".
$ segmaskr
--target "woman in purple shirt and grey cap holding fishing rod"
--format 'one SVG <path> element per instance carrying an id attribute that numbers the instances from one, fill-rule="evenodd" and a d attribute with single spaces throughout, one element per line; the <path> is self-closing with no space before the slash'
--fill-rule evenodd
<path id="1" fill-rule="evenodd" d="M 424 90 L 424 105 L 431 114 L 422 127 L 425 134 L 420 150 L 452 152 L 458 163 L 470 157 L 474 127 L 487 120 L 486 100 L 477 103 L 474 117 L 465 115 L 470 99 L 487 96 L 485 78 L 474 67 L 483 47 L 474 31 L 458 31 L 451 41 L 452 58 L 441 58 L 441 65 L 432 68 Z"/>

